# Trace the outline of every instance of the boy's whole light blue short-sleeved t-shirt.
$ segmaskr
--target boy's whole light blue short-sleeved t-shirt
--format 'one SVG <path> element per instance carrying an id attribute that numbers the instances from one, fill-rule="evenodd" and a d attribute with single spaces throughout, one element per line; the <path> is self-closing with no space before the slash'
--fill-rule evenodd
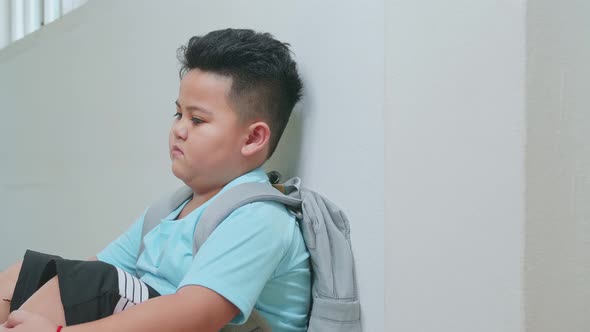
<path id="1" fill-rule="evenodd" d="M 255 169 L 227 184 L 219 194 L 244 182 L 268 182 Z M 311 301 L 309 253 L 296 219 L 284 205 L 256 202 L 235 210 L 205 241 L 193 259 L 199 217 L 219 194 L 182 219 L 184 205 L 146 234 L 137 260 L 144 216 L 98 255 L 152 286 L 172 294 L 187 285 L 214 290 L 239 308 L 232 323 L 241 324 L 253 307 L 273 331 L 306 331 Z M 137 265 L 137 266 L 136 266 Z"/>

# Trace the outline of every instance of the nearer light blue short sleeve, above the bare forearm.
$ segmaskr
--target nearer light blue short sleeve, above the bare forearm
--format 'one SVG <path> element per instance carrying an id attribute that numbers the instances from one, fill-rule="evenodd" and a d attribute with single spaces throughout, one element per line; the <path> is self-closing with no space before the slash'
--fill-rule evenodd
<path id="1" fill-rule="evenodd" d="M 235 210 L 203 243 L 178 288 L 199 285 L 215 291 L 238 307 L 232 323 L 242 324 L 287 251 L 290 220 L 278 203 Z"/>

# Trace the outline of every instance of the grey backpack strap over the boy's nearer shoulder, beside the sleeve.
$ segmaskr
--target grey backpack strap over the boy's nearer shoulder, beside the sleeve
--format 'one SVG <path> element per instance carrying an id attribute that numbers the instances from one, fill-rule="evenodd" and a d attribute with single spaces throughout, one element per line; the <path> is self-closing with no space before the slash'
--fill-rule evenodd
<path id="1" fill-rule="evenodd" d="M 298 191 L 296 183 L 298 182 L 293 181 L 291 184 L 285 183 L 276 188 L 268 183 L 247 182 L 230 188 L 215 198 L 205 209 L 195 228 L 193 255 L 199 251 L 215 228 L 239 207 L 253 202 L 274 201 L 298 210 L 301 207 L 301 200 L 296 197 Z M 290 192 L 291 195 L 285 195 L 280 190 Z"/>

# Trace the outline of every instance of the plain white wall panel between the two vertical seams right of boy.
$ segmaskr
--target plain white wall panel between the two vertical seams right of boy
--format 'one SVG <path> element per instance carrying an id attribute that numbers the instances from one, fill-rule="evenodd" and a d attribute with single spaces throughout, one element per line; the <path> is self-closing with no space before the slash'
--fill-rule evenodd
<path id="1" fill-rule="evenodd" d="M 385 22 L 386 331 L 523 331 L 525 2 Z"/>

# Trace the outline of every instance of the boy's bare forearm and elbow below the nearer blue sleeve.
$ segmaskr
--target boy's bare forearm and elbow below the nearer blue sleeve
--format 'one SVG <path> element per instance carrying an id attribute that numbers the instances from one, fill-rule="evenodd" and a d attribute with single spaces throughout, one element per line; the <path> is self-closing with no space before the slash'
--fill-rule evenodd
<path id="1" fill-rule="evenodd" d="M 224 297 L 200 286 L 186 286 L 119 314 L 74 325 L 63 332 L 194 332 L 219 331 L 238 309 Z"/>

